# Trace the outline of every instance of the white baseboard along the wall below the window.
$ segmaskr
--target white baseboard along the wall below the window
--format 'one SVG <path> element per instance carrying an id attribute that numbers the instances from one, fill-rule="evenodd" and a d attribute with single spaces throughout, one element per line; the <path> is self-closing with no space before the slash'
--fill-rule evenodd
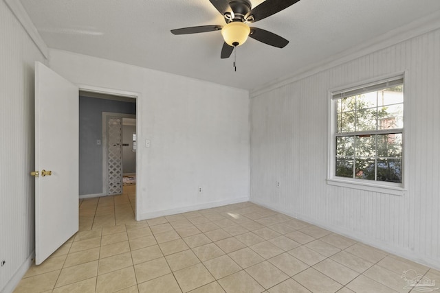
<path id="1" fill-rule="evenodd" d="M 371 239 L 369 237 L 365 237 L 365 235 L 362 235 L 360 233 L 355 233 L 353 231 L 349 231 L 347 229 L 341 228 L 340 226 L 335 226 L 335 225 L 331 225 L 328 223 L 316 221 L 316 219 L 309 218 L 306 215 L 301 215 L 299 213 L 289 213 L 287 211 L 281 211 L 279 209 L 274 209 L 273 207 L 270 207 L 267 204 L 259 202 L 258 200 L 250 200 L 250 202 L 253 202 L 254 204 L 259 204 L 262 207 L 267 207 L 267 209 L 272 209 L 273 211 L 278 211 L 279 213 L 284 213 L 285 215 L 289 215 L 292 218 L 302 220 L 302 221 L 307 222 L 309 224 L 314 224 L 315 226 L 319 226 L 320 228 L 325 228 L 328 231 L 331 231 L 333 233 L 338 233 L 342 236 L 354 239 L 358 242 L 362 242 L 363 244 L 367 244 L 369 246 L 373 246 L 373 247 L 378 248 L 380 250 L 384 250 L 387 253 L 391 253 L 393 255 L 403 257 L 404 259 L 408 259 L 410 261 L 420 263 L 423 266 L 429 266 L 430 268 L 440 270 L 440 259 L 433 259 L 432 257 L 427 257 L 426 255 L 421 255 L 419 253 L 415 253 L 414 251 L 406 249 L 406 248 L 391 246 L 389 243 L 382 242 L 377 239 Z"/>

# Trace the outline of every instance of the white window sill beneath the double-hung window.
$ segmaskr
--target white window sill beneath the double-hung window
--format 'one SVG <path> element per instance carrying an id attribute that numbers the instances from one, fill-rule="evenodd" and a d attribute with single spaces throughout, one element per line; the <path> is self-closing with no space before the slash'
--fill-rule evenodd
<path id="1" fill-rule="evenodd" d="M 378 183 L 359 182 L 358 180 L 328 178 L 328 185 L 360 189 L 366 191 L 380 192 L 381 194 L 393 194 L 395 196 L 404 196 L 406 189 L 396 185 L 386 185 Z"/>

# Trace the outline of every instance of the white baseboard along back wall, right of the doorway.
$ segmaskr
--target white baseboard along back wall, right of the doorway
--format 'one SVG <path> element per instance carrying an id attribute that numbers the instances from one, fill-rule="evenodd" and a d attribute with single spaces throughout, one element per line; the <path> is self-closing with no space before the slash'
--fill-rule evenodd
<path id="1" fill-rule="evenodd" d="M 176 213 L 186 213 L 188 211 L 197 211 L 199 209 L 210 209 L 212 207 L 221 207 L 227 204 L 236 204 L 239 202 L 248 202 L 249 197 L 234 198 L 232 200 L 220 200 L 217 202 L 206 202 L 203 204 L 194 204 L 186 207 L 179 207 L 176 209 L 164 209 L 161 211 L 151 211 L 149 213 L 142 213 L 141 215 L 136 215 L 137 221 L 153 219 L 157 217 L 162 217 L 164 215 L 175 215 Z"/>

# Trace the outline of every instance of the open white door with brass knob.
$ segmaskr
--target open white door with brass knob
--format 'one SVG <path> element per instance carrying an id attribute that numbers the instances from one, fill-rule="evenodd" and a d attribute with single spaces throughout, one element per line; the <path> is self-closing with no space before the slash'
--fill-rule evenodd
<path id="1" fill-rule="evenodd" d="M 78 101 L 77 86 L 36 62 L 36 264 L 78 231 Z"/>

